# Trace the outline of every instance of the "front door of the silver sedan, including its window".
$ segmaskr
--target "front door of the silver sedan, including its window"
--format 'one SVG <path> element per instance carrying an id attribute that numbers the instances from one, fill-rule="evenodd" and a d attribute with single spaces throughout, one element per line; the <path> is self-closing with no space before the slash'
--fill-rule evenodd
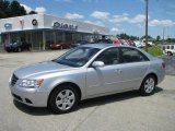
<path id="1" fill-rule="evenodd" d="M 94 61 L 103 61 L 105 66 L 101 68 L 88 68 L 86 95 L 91 96 L 120 90 L 121 74 L 118 70 L 119 49 L 107 49 Z"/>

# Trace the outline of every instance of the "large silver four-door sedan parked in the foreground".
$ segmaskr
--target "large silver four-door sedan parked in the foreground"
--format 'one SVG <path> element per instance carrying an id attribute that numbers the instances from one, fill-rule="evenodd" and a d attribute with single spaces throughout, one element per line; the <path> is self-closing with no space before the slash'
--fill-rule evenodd
<path id="1" fill-rule="evenodd" d="M 163 60 L 141 49 L 91 44 L 51 61 L 21 67 L 9 84 L 15 100 L 65 114 L 92 97 L 132 90 L 151 95 L 163 81 L 164 69 Z"/>

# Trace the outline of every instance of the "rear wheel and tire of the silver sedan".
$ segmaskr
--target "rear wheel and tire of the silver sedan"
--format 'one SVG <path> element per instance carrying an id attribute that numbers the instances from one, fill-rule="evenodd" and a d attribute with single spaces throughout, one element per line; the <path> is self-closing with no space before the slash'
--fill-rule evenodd
<path id="1" fill-rule="evenodd" d="M 140 95 L 142 96 L 152 95 L 155 90 L 155 83 L 156 83 L 156 80 L 154 75 L 148 75 L 147 78 L 144 78 L 139 90 Z"/>

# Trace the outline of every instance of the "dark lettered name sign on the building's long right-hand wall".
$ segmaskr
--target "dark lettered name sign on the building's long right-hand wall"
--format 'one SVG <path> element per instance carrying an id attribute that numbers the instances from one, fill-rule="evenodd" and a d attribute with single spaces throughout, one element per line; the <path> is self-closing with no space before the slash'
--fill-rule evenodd
<path id="1" fill-rule="evenodd" d="M 59 23 L 59 22 L 55 22 L 52 27 L 59 28 L 59 29 L 68 29 L 68 31 L 77 31 L 78 29 L 78 26 L 75 26 L 75 25 L 65 24 L 65 23 Z"/>

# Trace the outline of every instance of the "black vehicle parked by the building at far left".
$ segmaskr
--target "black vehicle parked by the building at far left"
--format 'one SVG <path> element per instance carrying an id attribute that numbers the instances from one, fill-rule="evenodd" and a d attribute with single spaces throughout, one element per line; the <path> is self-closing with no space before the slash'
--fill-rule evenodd
<path id="1" fill-rule="evenodd" d="M 31 50 L 32 48 L 32 45 L 26 43 L 26 41 L 23 41 L 23 43 L 12 43 L 12 44 L 7 44 L 4 45 L 4 50 L 8 51 L 8 52 L 11 52 L 11 51 L 18 51 L 18 52 L 21 52 L 23 50 Z"/>

